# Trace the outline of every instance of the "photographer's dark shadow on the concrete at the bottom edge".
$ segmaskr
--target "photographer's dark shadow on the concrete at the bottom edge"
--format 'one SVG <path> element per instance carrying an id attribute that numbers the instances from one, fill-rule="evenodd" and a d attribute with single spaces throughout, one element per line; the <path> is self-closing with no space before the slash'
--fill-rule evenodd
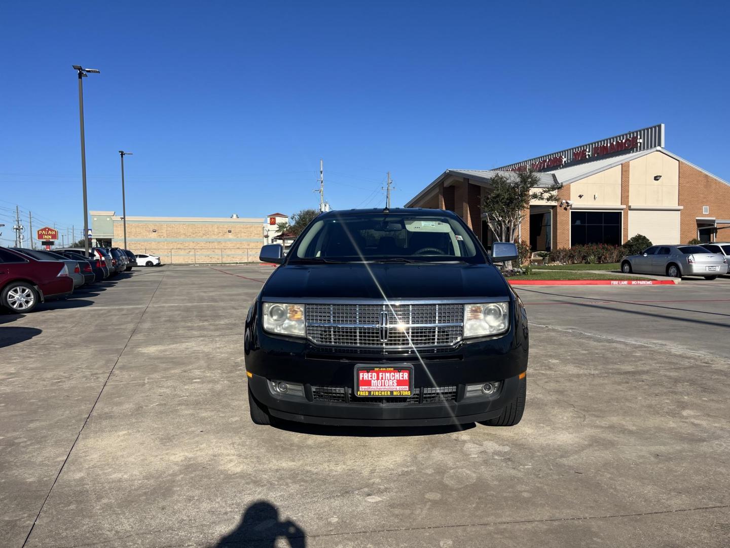
<path id="1" fill-rule="evenodd" d="M 243 514 L 238 527 L 221 537 L 215 548 L 274 548 L 286 539 L 291 548 L 305 548 L 304 530 L 291 520 L 280 521 L 279 510 L 268 501 L 256 501 Z"/>

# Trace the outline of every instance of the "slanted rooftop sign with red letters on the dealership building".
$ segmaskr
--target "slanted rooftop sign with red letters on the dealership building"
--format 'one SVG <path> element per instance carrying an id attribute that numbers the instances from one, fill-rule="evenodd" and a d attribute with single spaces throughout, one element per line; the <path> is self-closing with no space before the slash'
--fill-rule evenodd
<path id="1" fill-rule="evenodd" d="M 586 161 L 619 156 L 629 152 L 647 151 L 650 148 L 664 148 L 664 124 L 637 129 L 599 141 L 568 148 L 564 151 L 545 154 L 516 164 L 496 167 L 496 171 L 543 171 L 558 170 L 561 167 L 582 164 Z"/>

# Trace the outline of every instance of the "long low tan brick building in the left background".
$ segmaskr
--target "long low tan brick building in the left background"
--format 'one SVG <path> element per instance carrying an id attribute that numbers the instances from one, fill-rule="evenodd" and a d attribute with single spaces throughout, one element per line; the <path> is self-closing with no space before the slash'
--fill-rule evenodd
<path id="1" fill-rule="evenodd" d="M 114 211 L 89 211 L 93 245 L 124 247 L 123 218 Z M 283 213 L 265 218 L 127 216 L 127 248 L 160 256 L 167 264 L 258 262 L 261 246 L 278 234 Z"/>

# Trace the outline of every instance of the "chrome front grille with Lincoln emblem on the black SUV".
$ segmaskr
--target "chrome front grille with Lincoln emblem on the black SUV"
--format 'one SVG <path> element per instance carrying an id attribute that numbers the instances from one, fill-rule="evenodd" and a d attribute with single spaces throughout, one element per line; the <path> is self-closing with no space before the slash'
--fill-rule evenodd
<path id="1" fill-rule="evenodd" d="M 464 330 L 461 304 L 310 304 L 305 317 L 307 337 L 323 346 L 451 346 Z"/>

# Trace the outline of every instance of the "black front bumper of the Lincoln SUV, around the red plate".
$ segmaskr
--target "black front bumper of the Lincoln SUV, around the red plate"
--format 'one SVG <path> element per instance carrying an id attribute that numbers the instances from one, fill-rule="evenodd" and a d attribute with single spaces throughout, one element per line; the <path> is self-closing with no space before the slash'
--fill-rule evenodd
<path id="1" fill-rule="evenodd" d="M 418 355 L 383 354 L 374 349 L 331 349 L 303 339 L 272 336 L 253 320 L 247 324 L 244 348 L 248 386 L 274 417 L 319 425 L 454 425 L 499 416 L 515 398 L 519 376 L 527 369 L 529 337 L 526 316 L 516 314 L 510 330 L 496 338 L 462 341 L 453 348 L 423 350 Z M 412 403 L 353 397 L 356 366 L 395 364 L 412 365 L 416 392 L 448 387 L 450 397 L 427 402 L 421 395 Z M 302 384 L 304 395 L 280 394 L 269 381 Z M 496 394 L 466 397 L 467 384 L 492 381 L 502 382 Z M 333 387 L 342 392 L 342 398 L 328 401 L 317 397 L 321 389 Z"/>

